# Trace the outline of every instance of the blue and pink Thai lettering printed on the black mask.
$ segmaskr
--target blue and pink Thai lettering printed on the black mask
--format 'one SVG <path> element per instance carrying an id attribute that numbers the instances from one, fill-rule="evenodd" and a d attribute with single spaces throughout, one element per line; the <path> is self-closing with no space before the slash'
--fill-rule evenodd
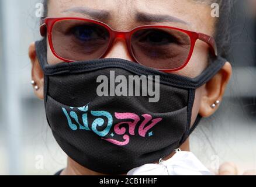
<path id="1" fill-rule="evenodd" d="M 98 117 L 92 122 L 91 125 L 88 124 L 88 112 L 89 112 L 89 104 L 81 107 L 81 108 L 74 108 L 70 107 L 71 111 L 68 113 L 65 108 L 62 108 L 65 117 L 67 117 L 68 126 L 71 130 L 88 130 L 93 131 L 98 136 L 102 137 L 103 140 L 109 141 L 110 143 L 116 144 L 117 146 L 126 146 L 130 141 L 130 136 L 135 136 L 135 128 L 137 125 L 139 125 L 138 134 L 141 137 L 146 137 L 146 134 L 150 129 L 152 129 L 155 124 L 160 122 L 162 118 L 155 118 L 149 114 L 141 115 L 143 117 L 143 120 L 141 122 L 140 116 L 136 115 L 135 113 L 117 113 L 115 112 L 116 119 L 119 120 L 129 120 L 126 122 L 120 122 L 114 125 L 113 129 L 113 116 L 106 111 L 93 111 L 91 110 L 90 114 L 92 116 Z M 82 112 L 81 116 L 78 116 L 77 113 L 74 111 L 80 111 Z M 82 124 L 79 122 L 79 117 L 82 119 Z M 105 119 L 108 119 L 108 123 L 106 124 L 106 127 L 99 131 L 97 127 L 103 126 L 105 124 Z M 75 123 L 72 122 L 75 121 Z M 140 124 L 139 124 L 140 122 Z M 126 127 L 120 127 L 121 125 L 127 124 L 128 131 L 126 132 Z M 113 130 L 110 131 L 110 130 Z M 106 138 L 108 134 L 110 134 L 113 138 Z M 124 141 L 118 141 L 115 140 L 115 135 L 123 136 Z M 150 131 L 148 133 L 148 136 L 153 136 L 153 131 Z M 109 137 L 109 136 L 108 136 Z"/>

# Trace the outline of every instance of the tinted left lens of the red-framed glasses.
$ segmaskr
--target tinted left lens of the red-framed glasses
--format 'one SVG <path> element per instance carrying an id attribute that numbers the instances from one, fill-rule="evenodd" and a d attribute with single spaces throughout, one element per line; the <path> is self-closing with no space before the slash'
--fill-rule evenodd
<path id="1" fill-rule="evenodd" d="M 85 20 L 59 20 L 54 23 L 51 39 L 57 56 L 82 61 L 102 57 L 110 34 L 105 27 Z"/>

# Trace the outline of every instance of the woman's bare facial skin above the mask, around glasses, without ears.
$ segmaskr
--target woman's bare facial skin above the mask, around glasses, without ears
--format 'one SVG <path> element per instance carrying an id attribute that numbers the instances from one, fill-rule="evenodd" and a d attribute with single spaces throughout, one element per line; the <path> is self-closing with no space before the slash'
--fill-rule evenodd
<path id="1" fill-rule="evenodd" d="M 153 0 L 60 0 L 49 1 L 47 16 L 75 16 L 96 19 L 118 31 L 132 30 L 134 27 L 141 25 L 157 24 L 174 26 L 212 36 L 215 18 L 210 16 L 210 11 L 209 5 L 195 3 L 194 0 L 160 0 L 157 3 Z M 167 19 L 157 22 L 155 16 Z M 188 77 L 199 75 L 207 65 L 207 56 L 207 44 L 198 41 L 189 64 L 183 70 L 175 73 Z M 47 58 L 51 64 L 61 62 L 51 53 L 50 49 Z M 123 58 L 133 61 L 126 48 L 125 41 L 120 39 L 116 40 L 105 58 Z"/>

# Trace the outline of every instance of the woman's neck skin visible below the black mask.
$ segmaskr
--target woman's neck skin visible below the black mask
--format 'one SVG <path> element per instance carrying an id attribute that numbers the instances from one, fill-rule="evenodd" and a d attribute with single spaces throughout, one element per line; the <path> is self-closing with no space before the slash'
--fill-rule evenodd
<path id="1" fill-rule="evenodd" d="M 189 148 L 189 139 L 184 142 L 184 144 L 179 147 L 182 151 L 190 151 Z M 168 155 L 168 157 L 165 157 L 164 160 L 168 160 L 171 158 L 175 153 L 172 153 Z M 158 162 L 155 162 L 158 163 Z M 61 172 L 61 175 L 105 175 L 101 174 L 99 172 L 92 171 L 90 169 L 87 169 L 85 167 L 82 167 L 82 165 L 78 164 L 74 160 L 72 160 L 70 157 L 68 157 L 67 162 L 67 168 Z"/>

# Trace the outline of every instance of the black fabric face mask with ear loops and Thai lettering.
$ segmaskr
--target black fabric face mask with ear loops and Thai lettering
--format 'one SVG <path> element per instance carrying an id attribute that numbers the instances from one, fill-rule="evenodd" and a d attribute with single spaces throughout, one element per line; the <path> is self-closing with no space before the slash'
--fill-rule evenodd
<path id="1" fill-rule="evenodd" d="M 209 81 L 226 60 L 216 58 L 196 78 L 168 74 L 119 58 L 49 65 L 46 42 L 36 42 L 44 71 L 47 121 L 60 147 L 74 161 L 102 174 L 165 158 L 181 146 L 191 125 L 195 89 Z M 148 96 L 98 96 L 99 75 L 159 75 L 160 100 Z"/>

